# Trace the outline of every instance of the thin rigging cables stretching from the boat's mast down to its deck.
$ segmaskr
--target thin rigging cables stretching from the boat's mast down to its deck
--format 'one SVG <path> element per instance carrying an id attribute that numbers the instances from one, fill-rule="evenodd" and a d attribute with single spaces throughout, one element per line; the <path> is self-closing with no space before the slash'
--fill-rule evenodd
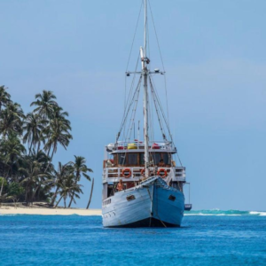
<path id="1" fill-rule="evenodd" d="M 142 88 L 141 84 L 143 84 L 143 90 L 144 90 L 144 114 L 145 114 L 145 122 L 144 122 L 144 132 L 147 134 L 144 134 L 145 137 L 145 144 L 149 145 L 149 139 L 154 138 L 154 126 L 155 126 L 155 121 L 153 121 L 153 114 L 156 116 L 156 120 L 158 121 L 159 128 L 160 128 L 160 133 L 162 136 L 163 141 L 166 144 L 171 144 L 175 147 L 176 145 L 174 144 L 173 136 L 170 131 L 170 125 L 169 125 L 169 113 L 168 113 L 168 91 L 167 91 L 167 79 L 166 79 L 166 72 L 165 72 L 165 67 L 164 67 L 164 62 L 162 59 L 162 54 L 160 50 L 160 43 L 159 43 L 159 38 L 157 34 L 157 30 L 155 27 L 155 23 L 153 20 L 153 11 L 151 8 L 151 4 L 149 0 L 146 0 L 148 4 L 145 4 L 144 0 L 141 1 L 138 17 L 137 17 L 137 24 L 135 27 L 134 35 L 133 35 L 133 40 L 130 46 L 130 51 L 129 51 L 129 59 L 127 62 L 126 66 L 126 76 L 125 76 L 125 99 L 124 99 L 124 112 L 122 115 L 122 120 L 121 120 L 121 126 L 119 129 L 119 132 L 116 136 L 116 144 L 118 143 L 119 139 L 121 138 L 125 143 L 130 142 L 131 136 L 132 136 L 132 131 L 134 129 L 134 134 L 135 134 L 135 121 L 136 121 L 136 115 L 137 115 L 137 103 L 138 103 L 138 98 L 140 94 L 140 90 Z M 134 71 L 129 71 L 129 61 L 131 59 L 131 54 L 133 51 L 134 43 L 135 43 L 135 38 L 137 34 L 137 27 L 139 24 L 140 20 L 140 14 L 142 12 L 142 9 L 145 9 L 145 43 L 144 43 L 144 48 L 140 49 L 140 53 L 138 53 L 138 58 L 137 58 L 137 64 L 135 66 Z M 162 66 L 163 71 L 160 71 L 159 69 L 154 69 L 154 71 L 151 71 L 149 69 L 150 66 L 150 57 L 151 57 L 151 50 L 150 50 L 150 38 L 149 38 L 149 23 L 147 20 L 147 10 L 149 7 L 149 11 L 151 14 L 152 18 L 152 24 L 153 24 L 153 30 L 155 33 L 155 39 L 156 43 L 158 46 L 158 50 L 160 53 L 160 63 Z M 147 57 L 149 56 L 149 58 Z M 142 69 L 139 69 L 139 61 L 141 61 L 141 66 Z M 129 90 L 127 90 L 128 84 L 127 80 L 129 76 L 132 74 L 132 80 L 129 85 Z M 137 74 L 140 75 L 138 81 L 137 81 Z M 166 98 L 166 113 L 164 112 L 164 109 L 162 108 L 162 104 L 160 101 L 159 93 L 158 90 L 156 89 L 155 83 L 153 81 L 153 75 L 155 74 L 161 74 L 163 75 L 164 79 L 164 90 L 165 90 L 165 98 Z M 137 82 L 137 84 L 136 84 Z M 126 97 L 128 91 L 128 97 Z M 154 113 L 153 113 L 154 112 Z M 138 125 L 139 127 L 139 125 Z M 122 137 L 121 137 L 122 133 Z M 135 138 L 135 137 L 134 137 Z M 139 141 L 139 139 L 138 139 Z M 145 154 L 147 151 L 145 152 Z M 178 160 L 181 163 L 181 160 L 179 159 L 177 149 L 176 149 L 176 154 L 178 157 Z M 145 155 L 145 160 L 148 160 L 147 155 Z M 145 167 L 146 168 L 146 167 Z"/>

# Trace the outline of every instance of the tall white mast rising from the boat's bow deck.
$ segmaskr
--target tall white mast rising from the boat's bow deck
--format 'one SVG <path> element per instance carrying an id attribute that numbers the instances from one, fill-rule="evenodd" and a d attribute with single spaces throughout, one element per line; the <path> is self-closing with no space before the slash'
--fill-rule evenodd
<path id="1" fill-rule="evenodd" d="M 148 121 L 148 74 L 146 67 L 149 64 L 149 59 L 146 57 L 147 43 L 147 0 L 145 0 L 145 35 L 144 49 L 140 47 L 140 57 L 142 61 L 142 75 L 144 77 L 144 132 L 145 132 L 145 177 L 149 176 L 149 121 Z"/>

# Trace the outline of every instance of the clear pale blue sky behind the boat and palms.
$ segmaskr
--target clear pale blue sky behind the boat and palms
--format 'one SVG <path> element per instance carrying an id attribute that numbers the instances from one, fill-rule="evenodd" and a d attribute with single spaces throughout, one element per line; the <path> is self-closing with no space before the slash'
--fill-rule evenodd
<path id="1" fill-rule="evenodd" d="M 150 2 L 167 71 L 171 128 L 194 209 L 265 210 L 266 2 Z M 120 126 L 140 4 L 0 0 L 0 83 L 25 112 L 35 93 L 54 91 L 70 113 L 74 135 L 55 160 L 88 160 L 95 177 L 91 207 L 101 207 L 104 146 Z M 143 43 L 142 22 L 131 69 Z M 161 67 L 151 21 L 150 29 L 151 66 Z M 78 207 L 89 198 L 90 184 L 83 184 Z"/>

